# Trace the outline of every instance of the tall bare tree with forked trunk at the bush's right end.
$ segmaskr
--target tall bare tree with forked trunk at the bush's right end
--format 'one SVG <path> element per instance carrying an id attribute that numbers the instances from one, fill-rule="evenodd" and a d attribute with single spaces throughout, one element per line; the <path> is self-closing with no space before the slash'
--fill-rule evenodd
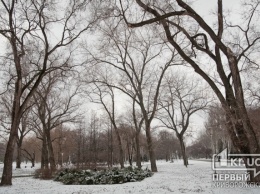
<path id="1" fill-rule="evenodd" d="M 109 25 L 109 22 L 106 24 L 101 28 L 102 37 L 105 39 L 98 49 L 98 54 L 93 51 L 88 54 L 91 56 L 90 63 L 96 65 L 95 71 L 107 74 L 109 69 L 114 80 L 107 80 L 107 75 L 95 76 L 93 80 L 116 88 L 134 100 L 136 103 L 134 108 L 141 111 L 144 119 L 151 169 L 156 172 L 151 122 L 157 110 L 163 76 L 173 65 L 176 55 L 171 51 L 167 52 L 169 55 L 164 56 L 162 51 L 167 51 L 169 48 L 163 43 L 155 43 L 154 39 L 160 40 L 160 38 L 154 37 L 152 31 L 128 31 L 122 23 L 116 25 L 118 28 L 113 24 Z M 156 52 L 153 52 L 155 50 Z M 156 65 L 153 66 L 154 64 Z"/>

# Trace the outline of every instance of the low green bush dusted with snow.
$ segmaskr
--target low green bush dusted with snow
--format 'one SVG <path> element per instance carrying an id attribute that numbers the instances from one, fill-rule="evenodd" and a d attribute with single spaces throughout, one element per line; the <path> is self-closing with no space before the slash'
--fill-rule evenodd
<path id="1" fill-rule="evenodd" d="M 54 180 L 67 185 L 122 184 L 141 181 L 152 175 L 153 173 L 148 169 L 132 167 L 100 171 L 65 169 L 58 172 Z"/>

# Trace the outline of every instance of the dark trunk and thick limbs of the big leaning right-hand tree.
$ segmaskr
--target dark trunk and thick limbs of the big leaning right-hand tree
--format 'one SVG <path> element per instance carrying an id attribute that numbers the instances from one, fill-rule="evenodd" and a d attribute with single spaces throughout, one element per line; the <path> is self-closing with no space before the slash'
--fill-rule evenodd
<path id="1" fill-rule="evenodd" d="M 243 47 L 242 45 L 238 44 L 237 46 L 239 46 L 242 49 L 242 51 L 240 53 L 237 53 L 236 51 L 236 54 L 234 54 L 230 49 L 232 45 L 225 44 L 225 41 L 222 41 L 224 31 L 222 0 L 218 0 L 218 26 L 217 28 L 215 27 L 215 29 L 211 28 L 206 23 L 206 21 L 199 14 L 197 14 L 196 11 L 192 9 L 188 3 L 186 3 L 186 1 L 176 0 L 177 4 L 179 5 L 179 8 L 182 9 L 182 11 L 173 11 L 171 13 L 165 12 L 163 15 L 161 15 L 162 11 L 160 9 L 150 7 L 148 4 L 145 4 L 140 0 L 136 0 L 136 2 L 140 7 L 143 8 L 143 10 L 149 12 L 150 14 L 153 14 L 154 18 L 147 19 L 145 21 L 141 21 L 140 23 L 135 24 L 131 24 L 126 21 L 128 26 L 140 27 L 143 25 L 160 22 L 160 24 L 164 28 L 169 43 L 178 51 L 180 56 L 193 67 L 195 72 L 199 74 L 209 84 L 209 86 L 212 88 L 212 90 L 218 97 L 222 107 L 225 110 L 225 113 L 227 114 L 227 123 L 229 125 L 228 132 L 231 136 L 234 147 L 238 150 L 240 154 L 259 154 L 260 145 L 256 139 L 256 133 L 254 132 L 253 127 L 248 118 L 248 113 L 246 111 L 244 102 L 244 90 L 242 87 L 240 69 L 238 68 L 238 62 L 241 60 L 243 56 L 245 56 L 245 53 L 252 52 L 253 50 L 250 50 L 250 48 L 257 46 L 256 42 L 258 41 L 259 36 L 252 38 L 252 40 L 251 38 L 249 38 L 247 43 L 245 43 L 247 44 L 246 47 Z M 255 8 L 256 7 L 257 5 L 255 4 Z M 252 10 L 255 11 L 255 9 Z M 249 11 L 249 16 L 253 17 L 254 11 Z M 180 25 L 180 23 L 175 23 L 175 21 L 173 20 L 171 21 L 170 16 L 173 16 L 174 14 L 179 16 L 183 15 L 183 17 L 188 16 L 194 19 L 198 23 L 199 27 L 203 29 L 206 33 L 205 37 L 210 38 L 210 41 L 207 40 L 207 42 L 211 42 L 211 45 L 212 43 L 215 44 L 215 52 L 211 51 L 213 49 L 210 48 L 211 45 L 209 45 L 206 42 L 206 39 L 206 44 L 204 45 L 204 47 L 201 47 L 196 41 L 194 41 L 194 34 L 189 34 L 189 30 L 186 29 L 185 24 L 182 26 Z M 247 22 L 248 25 L 248 30 L 243 31 L 241 26 L 234 25 L 238 28 L 241 28 L 241 32 L 244 33 L 245 36 L 249 34 L 250 28 L 253 28 L 253 24 L 251 23 L 251 17 L 248 17 L 248 20 L 245 20 L 245 22 Z M 126 20 L 125 17 L 124 19 Z M 192 57 L 190 56 L 190 52 L 186 53 L 186 48 L 183 49 L 181 45 L 177 41 L 175 41 L 176 30 L 173 30 L 172 32 L 172 26 L 173 28 L 176 27 L 177 31 L 181 31 L 185 34 L 185 36 L 187 37 L 187 41 L 191 43 L 192 47 L 195 47 L 197 50 L 204 52 L 205 55 L 207 55 L 209 58 L 212 58 L 215 61 L 215 65 L 217 68 L 217 72 L 215 73 L 218 74 L 218 76 L 220 77 L 220 82 L 221 85 L 224 86 L 226 97 L 224 97 L 222 94 L 223 88 L 220 89 L 218 85 L 214 82 L 214 80 L 211 79 L 209 74 L 203 69 L 201 69 L 200 64 L 198 64 L 196 60 L 192 59 Z M 217 33 L 215 33 L 216 29 L 218 29 Z M 223 56 L 225 56 L 228 60 L 230 73 L 226 71 L 226 67 L 222 63 Z M 232 84 L 230 84 L 231 82 Z M 250 175 L 251 173 L 252 172 L 250 171 Z M 259 175 L 256 177 L 251 177 L 251 181 L 253 182 L 260 182 L 259 179 Z"/>

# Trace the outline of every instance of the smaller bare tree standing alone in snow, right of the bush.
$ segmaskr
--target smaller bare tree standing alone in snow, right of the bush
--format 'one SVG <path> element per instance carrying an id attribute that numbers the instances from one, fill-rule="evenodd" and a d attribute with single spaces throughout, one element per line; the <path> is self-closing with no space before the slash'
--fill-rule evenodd
<path id="1" fill-rule="evenodd" d="M 165 80 L 163 90 L 165 93 L 160 99 L 161 114 L 158 119 L 165 127 L 175 131 L 180 142 L 183 163 L 187 167 L 184 135 L 189 128 L 191 117 L 198 111 L 204 110 L 209 100 L 206 99 L 204 89 L 196 88 L 198 82 L 192 78 L 172 74 Z"/>

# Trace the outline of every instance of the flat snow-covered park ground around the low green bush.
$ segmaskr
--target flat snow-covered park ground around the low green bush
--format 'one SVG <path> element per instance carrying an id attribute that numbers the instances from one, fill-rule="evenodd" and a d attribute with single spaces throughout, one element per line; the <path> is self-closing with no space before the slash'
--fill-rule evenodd
<path id="1" fill-rule="evenodd" d="M 148 166 L 148 164 L 144 164 Z M 181 161 L 157 162 L 158 173 L 142 182 L 120 185 L 63 185 L 51 180 L 32 177 L 13 178 L 13 185 L 0 187 L 1 194 L 164 194 L 164 193 L 216 193 L 258 194 L 260 188 L 214 188 L 211 163 L 190 161 L 188 168 Z M 2 171 L 2 166 L 0 166 Z M 16 170 L 14 170 L 15 172 Z M 20 170 L 31 173 L 30 169 Z"/>

